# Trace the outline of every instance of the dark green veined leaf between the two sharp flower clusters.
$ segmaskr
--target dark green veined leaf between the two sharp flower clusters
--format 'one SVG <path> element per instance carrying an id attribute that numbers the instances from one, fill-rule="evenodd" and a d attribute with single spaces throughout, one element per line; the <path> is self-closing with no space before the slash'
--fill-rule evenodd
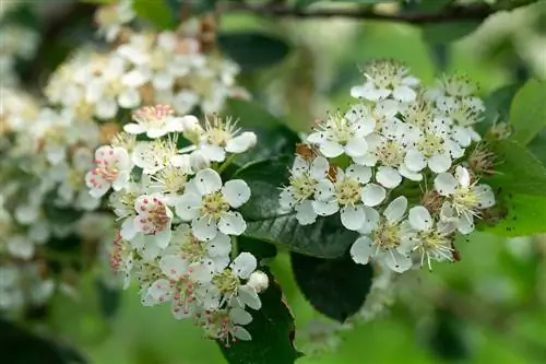
<path id="1" fill-rule="evenodd" d="M 234 176 L 245 179 L 252 190 L 250 200 L 240 209 L 247 221 L 245 236 L 312 257 L 343 256 L 358 234 L 343 227 L 339 216 L 318 218 L 314 224 L 304 226 L 295 212 L 280 211 L 280 187 L 288 183 L 292 162 L 292 156 L 257 162 Z"/>

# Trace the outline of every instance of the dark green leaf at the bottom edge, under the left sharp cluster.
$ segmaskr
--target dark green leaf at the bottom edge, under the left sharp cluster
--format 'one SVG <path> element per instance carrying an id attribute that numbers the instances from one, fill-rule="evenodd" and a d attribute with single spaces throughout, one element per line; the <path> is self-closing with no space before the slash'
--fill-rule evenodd
<path id="1" fill-rule="evenodd" d="M 230 348 L 218 343 L 229 364 L 292 364 L 301 356 L 294 347 L 295 325 L 281 286 L 270 275 L 270 286 L 260 294 L 262 307 L 251 310 L 252 322 L 245 328 L 250 341 L 236 341 Z"/>

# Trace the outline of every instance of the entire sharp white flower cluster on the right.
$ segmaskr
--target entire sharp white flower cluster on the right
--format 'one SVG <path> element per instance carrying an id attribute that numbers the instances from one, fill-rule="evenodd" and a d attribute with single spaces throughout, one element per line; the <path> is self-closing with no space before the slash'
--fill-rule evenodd
<path id="1" fill-rule="evenodd" d="M 389 60 L 363 74 L 351 90 L 358 101 L 317 121 L 298 146 L 282 208 L 302 225 L 341 219 L 360 234 L 351 248 L 357 263 L 404 272 L 456 260 L 456 234 L 495 204 L 468 163 L 484 111 L 476 85 L 455 74 L 425 87 Z"/>

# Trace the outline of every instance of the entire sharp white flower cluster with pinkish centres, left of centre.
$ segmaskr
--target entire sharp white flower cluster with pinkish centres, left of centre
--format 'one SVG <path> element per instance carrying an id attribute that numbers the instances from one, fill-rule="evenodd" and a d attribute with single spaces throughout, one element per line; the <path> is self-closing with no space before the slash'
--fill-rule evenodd
<path id="1" fill-rule="evenodd" d="M 126 287 L 138 282 L 143 305 L 168 304 L 226 345 L 250 340 L 247 309 L 260 309 L 269 279 L 250 253 L 234 256 L 247 227 L 237 209 L 251 191 L 218 171 L 256 134 L 217 115 L 177 117 L 167 105 L 142 107 L 132 119 L 96 150 L 85 177 L 91 196 L 110 193 L 118 216 L 112 268 Z"/>

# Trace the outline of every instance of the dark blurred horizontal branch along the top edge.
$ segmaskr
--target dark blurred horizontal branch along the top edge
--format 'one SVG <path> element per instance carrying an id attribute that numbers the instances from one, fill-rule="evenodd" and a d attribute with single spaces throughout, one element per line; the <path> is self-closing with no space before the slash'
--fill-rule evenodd
<path id="1" fill-rule="evenodd" d="M 533 1 L 521 1 L 513 4 L 510 9 L 520 8 L 532 3 Z M 299 17 L 299 19 L 323 19 L 323 17 L 346 17 L 346 19 L 367 19 L 377 21 L 391 21 L 411 24 L 431 24 L 447 22 L 473 22 L 483 21 L 489 15 L 496 13 L 498 9 L 486 4 L 451 5 L 436 13 L 387 13 L 378 12 L 373 9 L 316 9 L 292 8 L 278 3 L 268 3 L 263 5 L 252 5 L 245 2 L 227 3 L 223 12 L 244 12 L 258 15 L 280 16 L 280 17 Z"/>

